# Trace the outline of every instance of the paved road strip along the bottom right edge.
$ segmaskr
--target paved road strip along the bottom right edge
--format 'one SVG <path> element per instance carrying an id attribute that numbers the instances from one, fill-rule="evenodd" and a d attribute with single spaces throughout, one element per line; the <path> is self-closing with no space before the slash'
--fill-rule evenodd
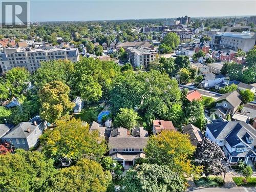
<path id="1" fill-rule="evenodd" d="M 232 187 L 232 188 L 221 188 L 221 187 L 197 187 L 197 188 L 188 188 L 188 191 L 195 192 L 255 192 L 256 187 Z"/>

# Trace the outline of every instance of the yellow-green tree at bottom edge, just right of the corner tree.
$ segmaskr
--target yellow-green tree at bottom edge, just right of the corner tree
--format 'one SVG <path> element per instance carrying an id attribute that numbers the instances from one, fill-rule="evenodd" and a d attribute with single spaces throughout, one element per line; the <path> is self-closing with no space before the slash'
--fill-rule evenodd
<path id="1" fill-rule="evenodd" d="M 81 159 L 76 165 L 62 168 L 49 180 L 48 191 L 106 191 L 111 174 L 99 163 Z"/>

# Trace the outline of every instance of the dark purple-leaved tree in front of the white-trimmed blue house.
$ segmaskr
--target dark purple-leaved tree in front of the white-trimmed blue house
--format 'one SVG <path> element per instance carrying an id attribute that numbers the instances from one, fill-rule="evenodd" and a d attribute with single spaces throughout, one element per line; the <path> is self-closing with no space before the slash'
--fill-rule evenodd
<path id="1" fill-rule="evenodd" d="M 225 155 L 217 143 L 203 138 L 197 145 L 194 157 L 197 165 L 203 165 L 202 174 L 218 176 L 224 172 L 225 168 L 221 161 L 225 159 Z"/>

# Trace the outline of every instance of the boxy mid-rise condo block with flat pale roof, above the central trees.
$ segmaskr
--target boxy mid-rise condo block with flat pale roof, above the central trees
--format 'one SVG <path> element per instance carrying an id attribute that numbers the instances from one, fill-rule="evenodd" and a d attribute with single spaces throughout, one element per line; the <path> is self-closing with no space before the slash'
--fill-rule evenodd
<path id="1" fill-rule="evenodd" d="M 127 48 L 129 61 L 134 67 L 146 68 L 148 63 L 154 61 L 157 52 L 150 48 L 131 47 Z"/>

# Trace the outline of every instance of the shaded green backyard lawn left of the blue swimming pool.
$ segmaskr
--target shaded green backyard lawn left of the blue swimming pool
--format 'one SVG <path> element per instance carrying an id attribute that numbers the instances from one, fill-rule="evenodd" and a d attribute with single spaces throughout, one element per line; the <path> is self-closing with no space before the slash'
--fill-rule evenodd
<path id="1" fill-rule="evenodd" d="M 74 117 L 90 123 L 92 121 L 97 121 L 97 116 L 101 110 L 102 108 L 99 108 L 98 106 L 90 106 L 82 109 L 81 113 L 75 114 Z"/>

